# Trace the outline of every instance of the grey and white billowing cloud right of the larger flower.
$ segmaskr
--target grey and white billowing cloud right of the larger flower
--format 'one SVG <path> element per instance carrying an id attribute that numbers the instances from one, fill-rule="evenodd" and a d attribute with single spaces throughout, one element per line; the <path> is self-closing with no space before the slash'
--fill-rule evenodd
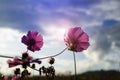
<path id="1" fill-rule="evenodd" d="M 97 29 L 90 38 L 90 47 L 85 55 L 91 59 L 92 66 L 88 70 L 119 70 L 120 38 L 119 24 L 108 28 Z"/>

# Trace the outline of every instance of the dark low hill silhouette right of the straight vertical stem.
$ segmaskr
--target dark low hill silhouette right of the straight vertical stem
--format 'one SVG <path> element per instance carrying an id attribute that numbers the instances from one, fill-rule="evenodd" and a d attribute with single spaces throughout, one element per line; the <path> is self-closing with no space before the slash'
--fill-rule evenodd
<path id="1" fill-rule="evenodd" d="M 120 72 L 109 71 L 89 71 L 78 76 L 78 80 L 120 80 Z"/>

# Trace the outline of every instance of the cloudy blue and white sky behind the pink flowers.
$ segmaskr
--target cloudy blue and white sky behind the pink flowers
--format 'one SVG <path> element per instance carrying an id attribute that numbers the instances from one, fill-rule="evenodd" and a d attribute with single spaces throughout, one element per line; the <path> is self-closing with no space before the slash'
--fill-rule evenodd
<path id="1" fill-rule="evenodd" d="M 29 52 L 34 58 L 62 51 L 64 33 L 81 27 L 90 47 L 76 53 L 77 73 L 95 70 L 120 70 L 120 0 L 0 0 L 0 55 L 21 56 L 26 46 L 21 37 L 29 30 L 43 35 L 40 51 Z M 0 72 L 12 74 L 8 59 L 0 58 Z M 37 65 L 49 66 L 46 60 Z M 55 57 L 57 73 L 74 73 L 73 55 L 66 50 Z M 21 67 L 21 66 L 17 66 Z M 37 72 L 36 72 L 37 74 Z"/>

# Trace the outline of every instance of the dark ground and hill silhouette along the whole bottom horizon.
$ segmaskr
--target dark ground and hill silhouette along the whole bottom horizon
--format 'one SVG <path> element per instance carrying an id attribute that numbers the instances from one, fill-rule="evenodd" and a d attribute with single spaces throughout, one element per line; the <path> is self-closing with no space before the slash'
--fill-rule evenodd
<path id="1" fill-rule="evenodd" d="M 3 80 L 0 78 L 0 80 Z M 34 76 L 27 80 L 48 80 L 45 77 Z M 56 76 L 53 80 L 74 80 L 74 75 L 69 76 Z M 109 71 L 89 71 L 77 75 L 77 80 L 120 80 L 120 72 L 115 70 Z"/>

